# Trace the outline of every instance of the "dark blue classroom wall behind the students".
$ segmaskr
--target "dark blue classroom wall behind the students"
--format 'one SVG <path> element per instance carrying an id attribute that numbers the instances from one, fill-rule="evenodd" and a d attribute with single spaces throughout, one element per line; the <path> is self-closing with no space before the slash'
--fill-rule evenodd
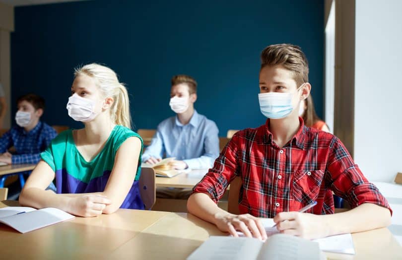
<path id="1" fill-rule="evenodd" d="M 184 73 L 199 83 L 196 109 L 224 136 L 264 124 L 259 55 L 269 44 L 292 43 L 307 55 L 322 116 L 323 2 L 93 0 L 16 7 L 12 100 L 35 92 L 47 102 L 44 121 L 79 128 L 66 110 L 73 68 L 97 62 L 127 83 L 135 129 L 156 128 L 173 115 L 171 76 Z"/>

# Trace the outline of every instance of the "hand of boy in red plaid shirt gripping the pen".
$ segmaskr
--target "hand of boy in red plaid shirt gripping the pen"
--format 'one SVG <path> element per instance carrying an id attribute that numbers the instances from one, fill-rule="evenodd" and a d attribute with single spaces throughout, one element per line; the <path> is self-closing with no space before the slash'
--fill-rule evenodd
<path id="1" fill-rule="evenodd" d="M 310 213 L 297 211 L 280 212 L 274 218 L 277 230 L 282 234 L 294 235 L 306 239 L 322 238 L 329 235 L 324 218 Z"/>

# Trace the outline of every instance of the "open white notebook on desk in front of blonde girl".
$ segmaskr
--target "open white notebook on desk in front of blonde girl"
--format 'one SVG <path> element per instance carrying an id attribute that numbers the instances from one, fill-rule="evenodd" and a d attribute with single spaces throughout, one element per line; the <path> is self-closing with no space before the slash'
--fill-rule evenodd
<path id="1" fill-rule="evenodd" d="M 21 233 L 50 226 L 71 218 L 74 218 L 74 216 L 53 207 L 42 209 L 31 207 L 0 208 L 0 223 L 6 224 Z"/>

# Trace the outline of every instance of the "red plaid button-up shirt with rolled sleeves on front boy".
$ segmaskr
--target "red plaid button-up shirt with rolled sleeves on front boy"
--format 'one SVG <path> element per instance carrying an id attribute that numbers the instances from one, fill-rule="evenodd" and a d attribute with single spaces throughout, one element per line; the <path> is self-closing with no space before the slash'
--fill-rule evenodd
<path id="1" fill-rule="evenodd" d="M 297 211 L 317 201 L 308 213 L 334 213 L 334 192 L 352 208 L 374 203 L 392 210 L 377 187 L 363 176 L 333 134 L 304 126 L 282 148 L 272 141 L 266 125 L 238 131 L 215 160 L 194 192 L 220 199 L 229 183 L 242 179 L 239 210 L 257 217 Z"/>

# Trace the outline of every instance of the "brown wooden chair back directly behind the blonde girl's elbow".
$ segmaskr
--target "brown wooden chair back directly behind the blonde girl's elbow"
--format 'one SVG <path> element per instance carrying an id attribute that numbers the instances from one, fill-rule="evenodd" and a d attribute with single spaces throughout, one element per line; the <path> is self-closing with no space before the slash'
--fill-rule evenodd
<path id="1" fill-rule="evenodd" d="M 145 209 L 150 210 L 156 200 L 155 171 L 153 168 L 141 168 L 138 187 Z"/>

